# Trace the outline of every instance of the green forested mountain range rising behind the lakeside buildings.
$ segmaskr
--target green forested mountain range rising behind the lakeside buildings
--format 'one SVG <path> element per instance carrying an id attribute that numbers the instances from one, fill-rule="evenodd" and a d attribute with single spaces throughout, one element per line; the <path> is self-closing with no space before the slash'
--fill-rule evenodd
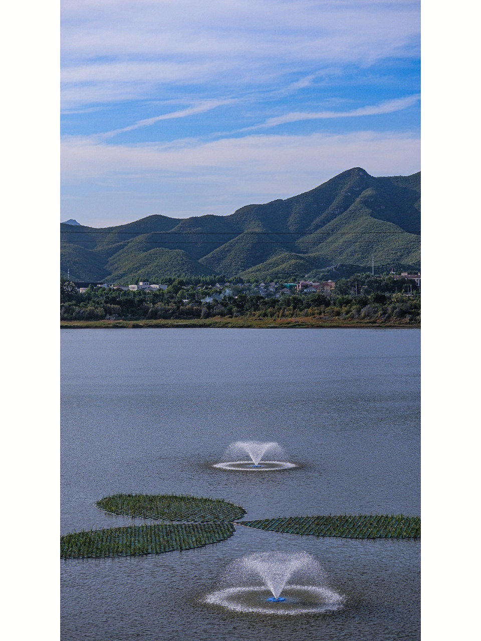
<path id="1" fill-rule="evenodd" d="M 338 263 L 419 267 L 421 174 L 356 167 L 305 194 L 228 216 L 153 215 L 125 225 L 60 224 L 60 267 L 115 282 L 201 274 L 300 278 Z"/>

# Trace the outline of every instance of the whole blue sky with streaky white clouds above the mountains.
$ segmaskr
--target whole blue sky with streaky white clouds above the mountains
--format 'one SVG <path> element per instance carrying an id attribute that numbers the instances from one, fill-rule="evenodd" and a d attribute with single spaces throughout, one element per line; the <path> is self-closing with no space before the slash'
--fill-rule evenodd
<path id="1" fill-rule="evenodd" d="M 62 0 L 61 219 L 420 169 L 419 2 Z"/>

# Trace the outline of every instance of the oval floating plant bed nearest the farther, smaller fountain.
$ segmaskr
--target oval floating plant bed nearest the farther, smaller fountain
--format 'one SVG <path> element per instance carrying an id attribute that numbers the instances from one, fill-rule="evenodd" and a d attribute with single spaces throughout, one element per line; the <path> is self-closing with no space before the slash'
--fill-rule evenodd
<path id="1" fill-rule="evenodd" d="M 127 517 L 173 521 L 232 521 L 246 514 L 223 499 L 176 494 L 114 494 L 100 499 L 96 506 Z"/>

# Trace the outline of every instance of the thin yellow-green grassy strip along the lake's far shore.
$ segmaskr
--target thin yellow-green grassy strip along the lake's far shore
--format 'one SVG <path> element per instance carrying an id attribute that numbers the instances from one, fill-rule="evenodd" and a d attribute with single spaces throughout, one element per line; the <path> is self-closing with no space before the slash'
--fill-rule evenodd
<path id="1" fill-rule="evenodd" d="M 61 320 L 60 329 L 144 329 L 144 328 L 222 328 L 222 329 L 420 329 L 419 323 L 366 322 L 362 320 L 291 319 L 156 319 L 156 320 Z"/>

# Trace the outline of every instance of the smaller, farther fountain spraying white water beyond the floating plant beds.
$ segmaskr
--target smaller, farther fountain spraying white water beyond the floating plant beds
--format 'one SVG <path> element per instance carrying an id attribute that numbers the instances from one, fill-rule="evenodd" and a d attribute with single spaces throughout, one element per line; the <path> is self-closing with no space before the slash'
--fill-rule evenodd
<path id="1" fill-rule="evenodd" d="M 269 460 L 264 460 L 264 454 L 269 454 Z M 246 460 L 248 454 L 250 460 Z M 242 460 L 232 460 L 243 457 Z M 272 460 L 275 458 L 276 460 Z M 285 458 L 282 447 L 276 442 L 262 441 L 236 441 L 229 445 L 224 454 L 223 461 L 215 463 L 214 467 L 223 470 L 237 471 L 269 471 L 269 470 L 286 470 L 296 467 L 294 463 L 284 461 Z"/>

